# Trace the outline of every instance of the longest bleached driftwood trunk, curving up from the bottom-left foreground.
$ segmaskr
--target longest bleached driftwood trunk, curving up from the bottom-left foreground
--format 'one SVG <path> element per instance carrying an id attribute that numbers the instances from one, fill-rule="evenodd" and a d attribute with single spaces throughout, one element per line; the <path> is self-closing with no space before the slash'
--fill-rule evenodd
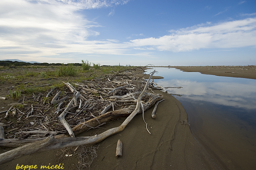
<path id="1" fill-rule="evenodd" d="M 60 148 L 64 148 L 64 147 L 72 147 L 72 146 L 80 146 L 80 145 L 88 145 L 88 144 L 98 143 L 113 134 L 122 132 L 125 129 L 126 125 L 140 111 L 140 103 L 141 103 L 142 96 L 144 95 L 144 92 L 146 91 L 149 81 L 152 78 L 154 72 L 155 72 L 155 70 L 151 74 L 151 77 L 148 79 L 141 95 L 139 96 L 136 108 L 125 119 L 125 121 L 120 126 L 118 126 L 116 128 L 109 129 L 109 130 L 107 130 L 99 135 L 95 135 L 95 136 L 71 137 L 71 138 L 69 137 L 69 138 L 55 139 L 54 136 L 51 135 L 44 140 L 29 143 L 22 147 L 18 147 L 11 151 L 0 154 L 0 164 L 9 162 L 15 158 L 18 158 L 18 157 L 21 157 L 24 155 L 32 154 L 34 152 L 39 152 L 39 151 L 42 152 L 42 151 L 47 151 L 47 150 L 52 150 L 52 149 L 60 149 Z M 62 114 L 65 115 L 65 112 L 63 112 Z"/>

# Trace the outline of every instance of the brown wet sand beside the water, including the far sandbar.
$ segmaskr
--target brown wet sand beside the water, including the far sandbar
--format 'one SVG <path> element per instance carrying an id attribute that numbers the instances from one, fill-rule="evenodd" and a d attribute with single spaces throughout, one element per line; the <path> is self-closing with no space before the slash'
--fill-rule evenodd
<path id="1" fill-rule="evenodd" d="M 188 72 L 256 79 L 255 66 L 173 67 Z M 90 167 L 85 169 L 223 169 L 216 164 L 216 160 L 193 137 L 189 125 L 184 123 L 187 120 L 187 114 L 182 104 L 169 94 L 159 90 L 155 90 L 155 92 L 163 94 L 165 101 L 158 105 L 155 119 L 151 117 L 153 107 L 144 113 L 144 118 L 148 123 L 151 134 L 146 131 L 142 114 L 136 115 L 124 131 L 94 145 L 97 148 L 97 157 L 93 159 Z M 100 134 L 106 129 L 119 126 L 124 120 L 125 118 L 110 121 L 101 126 L 101 128 L 89 130 L 79 136 Z M 123 142 L 123 156 L 117 158 L 115 152 L 118 139 Z M 0 153 L 10 149 L 1 147 Z M 75 149 L 76 147 L 30 154 L 0 165 L 0 169 L 13 170 L 16 169 L 17 164 L 18 166 L 37 165 L 38 169 L 40 169 L 41 166 L 50 164 L 51 166 L 60 165 L 67 170 L 75 170 L 78 169 Z"/>

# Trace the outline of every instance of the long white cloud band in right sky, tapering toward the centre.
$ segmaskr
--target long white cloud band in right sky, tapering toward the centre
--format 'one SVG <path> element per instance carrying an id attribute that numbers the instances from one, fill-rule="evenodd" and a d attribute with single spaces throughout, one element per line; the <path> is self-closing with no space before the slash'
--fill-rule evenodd
<path id="1" fill-rule="evenodd" d="M 210 23 L 208 23 L 209 25 Z M 136 47 L 154 47 L 160 51 L 191 51 L 204 48 L 256 47 L 256 18 L 247 18 L 202 27 L 194 26 L 159 38 L 130 40 Z"/>

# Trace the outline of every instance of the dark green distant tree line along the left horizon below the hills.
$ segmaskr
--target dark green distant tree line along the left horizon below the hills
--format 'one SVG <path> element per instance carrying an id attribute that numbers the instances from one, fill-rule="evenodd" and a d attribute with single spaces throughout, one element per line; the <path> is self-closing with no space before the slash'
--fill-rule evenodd
<path id="1" fill-rule="evenodd" d="M 74 66 L 82 66 L 81 63 L 72 63 Z M 26 62 L 17 62 L 17 61 L 0 61 L 0 66 L 61 66 L 62 63 L 26 63 Z M 68 64 L 64 64 L 68 65 Z"/>

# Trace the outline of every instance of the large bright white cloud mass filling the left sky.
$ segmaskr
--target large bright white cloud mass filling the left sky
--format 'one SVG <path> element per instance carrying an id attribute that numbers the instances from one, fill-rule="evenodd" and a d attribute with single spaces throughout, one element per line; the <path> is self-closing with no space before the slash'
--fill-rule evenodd
<path id="1" fill-rule="evenodd" d="M 49 56 L 65 52 L 84 52 L 88 46 L 97 46 L 88 51 L 102 49 L 102 44 L 116 40 L 95 43 L 87 41 L 89 36 L 99 32 L 101 27 L 78 13 L 81 9 L 111 7 L 127 3 L 127 0 L 8 0 L 0 1 L 0 53 L 2 57 Z M 84 47 L 86 46 L 86 48 Z M 12 50 L 8 50 L 12 48 Z M 111 51 L 103 49 L 102 53 Z M 112 53 L 118 53 L 112 50 Z"/>

